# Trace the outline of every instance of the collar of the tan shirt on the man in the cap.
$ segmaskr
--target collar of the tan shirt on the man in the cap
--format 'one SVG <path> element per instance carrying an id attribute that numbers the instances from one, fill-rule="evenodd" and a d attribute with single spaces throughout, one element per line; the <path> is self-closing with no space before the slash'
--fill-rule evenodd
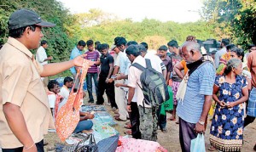
<path id="1" fill-rule="evenodd" d="M 29 58 L 32 59 L 33 54 L 26 48 L 26 46 L 24 44 L 22 44 L 15 38 L 9 37 L 7 43 L 9 43 L 9 45 L 17 48 L 18 50 L 20 50 L 20 52 L 25 53 L 27 56 L 29 56 Z"/>

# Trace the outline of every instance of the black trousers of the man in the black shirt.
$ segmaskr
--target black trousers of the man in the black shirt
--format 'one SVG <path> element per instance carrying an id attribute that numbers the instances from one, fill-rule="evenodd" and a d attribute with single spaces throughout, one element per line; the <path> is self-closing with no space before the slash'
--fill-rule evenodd
<path id="1" fill-rule="evenodd" d="M 112 83 L 106 83 L 106 79 L 108 76 L 100 76 L 99 82 L 98 82 L 98 97 L 97 97 L 97 102 L 96 104 L 103 104 L 104 99 L 103 99 L 103 94 L 106 90 L 106 94 L 108 96 L 109 102 L 111 104 L 111 107 L 117 107 L 117 104 L 115 103 L 114 99 L 114 84 Z"/>

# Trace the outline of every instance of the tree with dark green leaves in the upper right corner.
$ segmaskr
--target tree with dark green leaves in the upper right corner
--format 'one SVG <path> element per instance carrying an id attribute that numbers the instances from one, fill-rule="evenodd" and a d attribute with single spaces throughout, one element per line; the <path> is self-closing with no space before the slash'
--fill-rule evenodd
<path id="1" fill-rule="evenodd" d="M 205 0 L 203 17 L 215 26 L 218 37 L 231 37 L 243 46 L 256 43 L 254 0 Z"/>

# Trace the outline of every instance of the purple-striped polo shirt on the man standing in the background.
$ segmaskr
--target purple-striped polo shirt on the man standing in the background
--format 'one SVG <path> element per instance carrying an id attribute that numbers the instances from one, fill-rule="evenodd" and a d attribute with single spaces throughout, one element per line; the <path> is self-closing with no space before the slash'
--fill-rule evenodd
<path id="1" fill-rule="evenodd" d="M 84 54 L 87 54 L 84 59 L 89 59 L 91 61 L 97 61 L 100 59 L 100 54 L 97 51 L 87 51 Z M 91 65 L 88 69 L 88 73 L 97 73 L 98 71 L 98 65 Z"/>

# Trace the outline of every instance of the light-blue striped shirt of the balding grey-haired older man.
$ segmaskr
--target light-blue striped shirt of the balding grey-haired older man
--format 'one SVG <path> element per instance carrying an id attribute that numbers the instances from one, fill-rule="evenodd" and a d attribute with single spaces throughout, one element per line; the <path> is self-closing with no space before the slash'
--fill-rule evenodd
<path id="1" fill-rule="evenodd" d="M 211 63 L 201 65 L 190 76 L 183 99 L 177 103 L 177 115 L 184 121 L 196 123 L 201 117 L 205 95 L 212 95 L 215 69 Z"/>

